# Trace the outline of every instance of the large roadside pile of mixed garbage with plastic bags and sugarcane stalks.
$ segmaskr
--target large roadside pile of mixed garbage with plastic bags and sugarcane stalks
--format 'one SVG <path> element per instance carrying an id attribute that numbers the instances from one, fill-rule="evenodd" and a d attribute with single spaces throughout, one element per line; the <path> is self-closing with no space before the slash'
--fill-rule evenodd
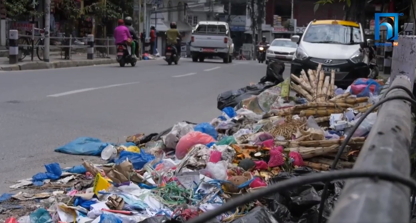
<path id="1" fill-rule="evenodd" d="M 104 164 L 46 164 L 45 173 L 10 186 L 25 192 L 1 195 L 0 213 L 7 223 L 185 222 L 240 194 L 329 170 L 348 134 L 352 139 L 336 168 L 351 168 L 375 113 L 356 132 L 349 129 L 388 82 L 360 78 L 342 90 L 334 86 L 333 74 L 324 77 L 319 69 L 292 80 L 298 85 L 288 78 L 276 86 L 220 94 L 218 105 L 233 106 L 221 108 L 209 123 L 182 121 L 160 133 L 132 135 L 119 145 L 91 137 L 69 142 L 55 152 L 101 156 Z M 324 218 L 343 184 L 331 183 Z M 316 222 L 323 187 L 317 183 L 270 194 L 213 222 Z"/>

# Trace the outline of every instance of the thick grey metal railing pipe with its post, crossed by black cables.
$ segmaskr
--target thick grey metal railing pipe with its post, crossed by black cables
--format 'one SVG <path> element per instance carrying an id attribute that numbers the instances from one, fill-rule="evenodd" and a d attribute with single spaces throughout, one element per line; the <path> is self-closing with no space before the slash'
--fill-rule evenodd
<path id="1" fill-rule="evenodd" d="M 416 38 L 399 36 L 394 49 L 394 69 L 390 87 L 404 86 L 410 90 L 414 78 Z M 410 47 L 412 46 L 412 47 Z M 412 49 L 405 49 L 406 47 Z M 405 55 L 402 52 L 406 52 Z M 407 76 L 406 76 L 407 75 Z M 409 78 L 410 77 L 410 78 Z M 395 89 L 386 96 L 408 96 Z M 409 97 L 410 98 L 410 97 Z M 377 170 L 410 177 L 409 147 L 413 135 L 411 108 L 403 100 L 381 105 L 354 169 Z M 410 189 L 403 184 L 375 179 L 348 180 L 329 218 L 329 223 L 409 222 Z"/>

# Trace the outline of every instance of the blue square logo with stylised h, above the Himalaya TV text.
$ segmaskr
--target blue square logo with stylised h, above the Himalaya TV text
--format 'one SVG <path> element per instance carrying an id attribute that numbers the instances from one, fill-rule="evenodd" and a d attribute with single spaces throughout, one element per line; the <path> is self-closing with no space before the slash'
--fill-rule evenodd
<path id="1" fill-rule="evenodd" d="M 386 40 L 399 39 L 399 16 L 403 16 L 403 13 L 374 13 L 374 39 L 380 40 L 381 26 L 387 28 Z"/>

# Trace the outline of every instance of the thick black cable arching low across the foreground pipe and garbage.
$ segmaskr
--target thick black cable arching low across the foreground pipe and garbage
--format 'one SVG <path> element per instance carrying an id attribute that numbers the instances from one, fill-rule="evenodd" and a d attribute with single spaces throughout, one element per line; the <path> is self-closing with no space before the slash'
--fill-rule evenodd
<path id="1" fill-rule="evenodd" d="M 306 176 L 300 176 L 292 179 L 287 179 L 284 181 L 280 181 L 278 184 L 272 184 L 265 189 L 261 189 L 254 193 L 244 194 L 242 196 L 238 196 L 230 200 L 230 202 L 224 203 L 221 207 L 216 208 L 212 211 L 208 211 L 206 213 L 201 214 L 196 218 L 192 218 L 186 223 L 206 223 L 212 218 L 219 216 L 222 213 L 227 211 L 232 211 L 236 207 L 244 205 L 248 202 L 255 201 L 258 198 L 275 194 L 281 191 L 293 189 L 294 187 L 305 185 L 305 184 L 312 184 L 320 181 L 333 181 L 338 179 L 349 179 L 349 178 L 375 178 L 377 180 L 386 180 L 392 182 L 398 182 L 409 186 L 411 189 L 416 189 L 416 181 L 411 178 L 405 178 L 403 176 L 397 176 L 397 174 L 389 174 L 381 171 L 358 171 L 353 169 L 347 170 L 337 170 L 332 172 L 319 172 L 319 173 L 312 173 L 307 174 Z"/>

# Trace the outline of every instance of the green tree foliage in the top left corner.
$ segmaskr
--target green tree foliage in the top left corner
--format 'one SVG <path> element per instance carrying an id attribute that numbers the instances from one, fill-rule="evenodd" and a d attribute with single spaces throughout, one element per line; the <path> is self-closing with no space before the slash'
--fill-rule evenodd
<path id="1" fill-rule="evenodd" d="M 32 2 L 27 0 L 3 0 L 3 4 L 6 8 L 7 17 L 12 20 L 28 20 L 30 17 L 41 17 L 42 12 L 38 12 L 33 9 Z M 35 6 L 39 5 L 39 2 L 35 1 Z"/>

